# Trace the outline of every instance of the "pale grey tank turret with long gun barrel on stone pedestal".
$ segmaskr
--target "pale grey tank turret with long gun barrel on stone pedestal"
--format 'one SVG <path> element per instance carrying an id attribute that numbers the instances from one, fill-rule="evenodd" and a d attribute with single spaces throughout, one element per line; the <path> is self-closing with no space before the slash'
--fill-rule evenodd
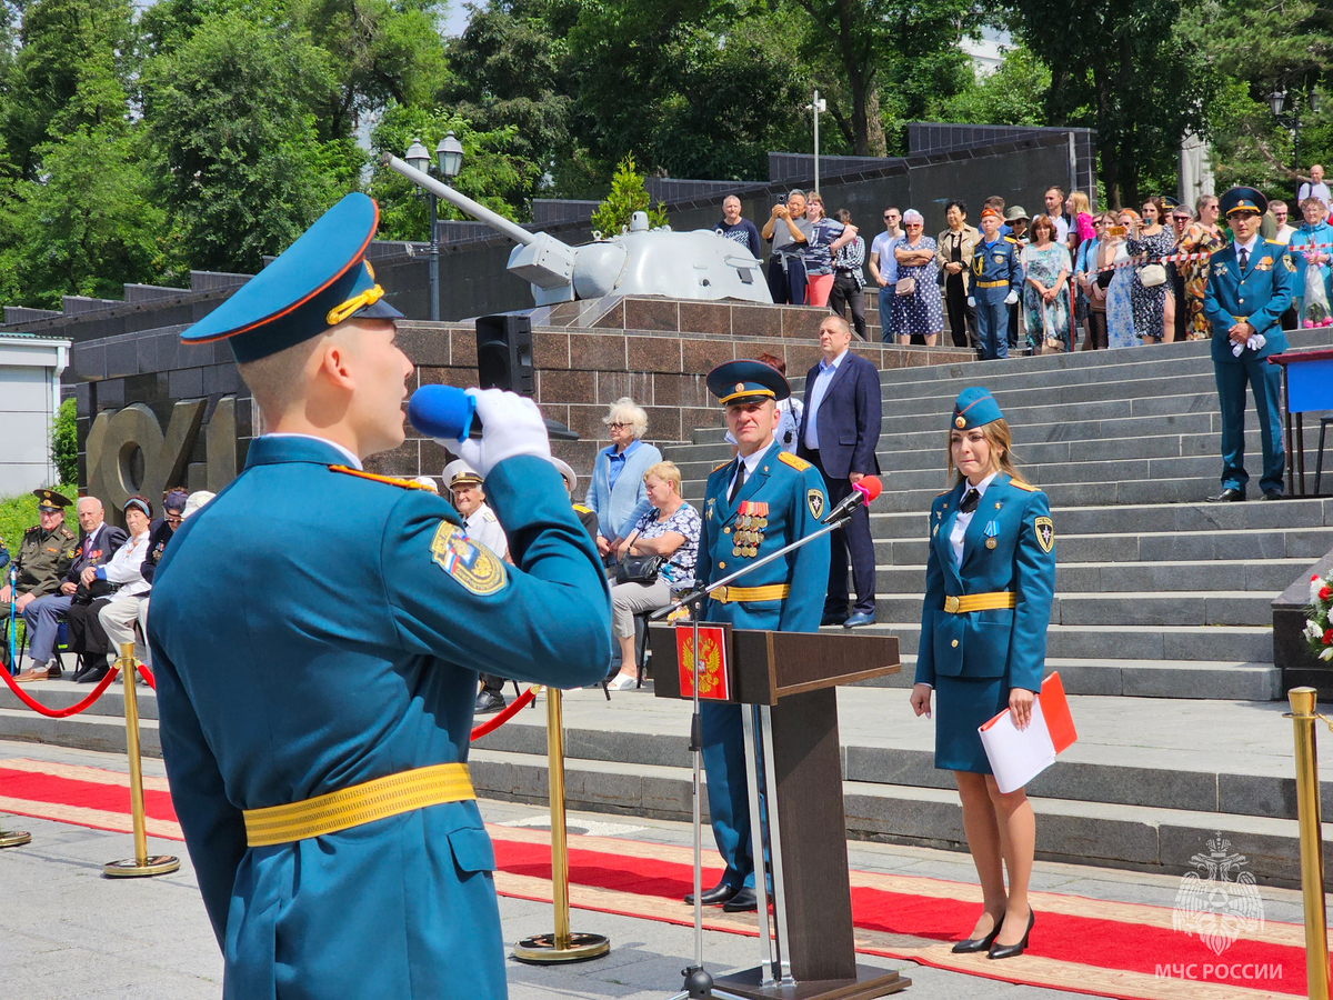
<path id="1" fill-rule="evenodd" d="M 385 153 L 383 163 L 517 243 L 508 267 L 532 285 L 537 305 L 613 293 L 773 301 L 761 263 L 746 247 L 712 229 L 652 229 L 648 216 L 635 212 L 627 232 L 571 247 L 549 233 L 528 232 L 397 156 Z"/>

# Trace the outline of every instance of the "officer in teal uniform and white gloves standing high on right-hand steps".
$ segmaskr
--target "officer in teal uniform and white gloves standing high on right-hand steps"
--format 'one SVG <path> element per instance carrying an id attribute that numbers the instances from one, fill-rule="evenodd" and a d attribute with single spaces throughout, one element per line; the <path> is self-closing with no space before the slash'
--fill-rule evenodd
<path id="1" fill-rule="evenodd" d="M 1296 261 L 1281 243 L 1258 235 L 1268 200 L 1254 188 L 1232 188 L 1218 199 L 1234 240 L 1204 265 L 1204 315 L 1213 325 L 1213 373 L 1222 407 L 1222 492 L 1210 503 L 1245 499 L 1245 384 L 1254 393 L 1265 500 L 1282 499 L 1282 417 L 1278 412 L 1281 373 L 1269 355 L 1286 351 L 1282 313 L 1296 293 Z"/>

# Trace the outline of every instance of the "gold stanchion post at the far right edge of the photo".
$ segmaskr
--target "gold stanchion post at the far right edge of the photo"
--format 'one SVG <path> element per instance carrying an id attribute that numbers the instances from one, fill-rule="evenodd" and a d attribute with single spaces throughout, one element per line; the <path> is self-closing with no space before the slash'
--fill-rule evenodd
<path id="1" fill-rule="evenodd" d="M 1314 688 L 1292 688 L 1296 729 L 1296 805 L 1301 829 L 1301 896 L 1305 903 L 1305 983 L 1309 1000 L 1329 1000 L 1329 940 L 1324 912 L 1324 832 L 1320 765 L 1314 752 Z"/>

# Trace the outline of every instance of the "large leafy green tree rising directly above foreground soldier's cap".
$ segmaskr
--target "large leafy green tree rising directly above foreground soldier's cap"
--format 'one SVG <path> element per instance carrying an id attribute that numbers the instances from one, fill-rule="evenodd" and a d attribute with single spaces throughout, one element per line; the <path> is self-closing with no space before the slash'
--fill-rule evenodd
<path id="1" fill-rule="evenodd" d="M 159 203 L 195 267 L 257 271 L 359 187 L 364 153 L 316 127 L 335 85 L 328 52 L 249 11 L 209 15 L 147 60 Z"/>

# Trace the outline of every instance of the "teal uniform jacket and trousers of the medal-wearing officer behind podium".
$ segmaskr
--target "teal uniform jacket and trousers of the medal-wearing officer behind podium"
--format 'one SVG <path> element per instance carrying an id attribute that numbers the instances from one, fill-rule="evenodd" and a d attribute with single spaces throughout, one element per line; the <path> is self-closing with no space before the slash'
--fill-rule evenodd
<path id="1" fill-rule="evenodd" d="M 802 459 L 784 452 L 774 441 L 741 487 L 736 503 L 728 503 L 734 465 L 720 465 L 708 477 L 704 492 L 704 529 L 698 541 L 694 579 L 716 583 L 742 569 L 746 563 L 812 535 L 828 513 L 824 477 Z M 754 556 L 736 556 L 741 504 L 768 504 L 764 537 Z M 744 536 L 742 536 L 744 540 Z M 716 601 L 704 608 L 705 621 L 729 621 L 736 628 L 774 632 L 817 632 L 824 613 L 829 579 L 829 539 L 825 535 L 784 559 L 774 559 L 738 579 L 736 587 L 790 584 L 785 600 Z M 745 740 L 741 705 L 700 705 L 704 731 L 704 768 L 708 772 L 708 811 L 717 851 L 726 863 L 722 881 L 734 889 L 754 885 L 749 797 L 745 780 Z"/>

